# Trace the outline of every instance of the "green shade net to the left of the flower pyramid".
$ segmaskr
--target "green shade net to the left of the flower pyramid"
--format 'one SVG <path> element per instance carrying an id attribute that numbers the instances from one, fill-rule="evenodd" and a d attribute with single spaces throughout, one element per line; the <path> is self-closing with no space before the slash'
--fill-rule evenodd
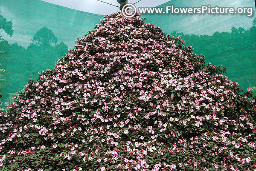
<path id="1" fill-rule="evenodd" d="M 73 48 L 76 37 L 100 22 L 102 15 L 68 9 L 40 0 L 0 1 L 1 108 L 12 102 L 29 78 L 53 69 L 59 57 Z"/>

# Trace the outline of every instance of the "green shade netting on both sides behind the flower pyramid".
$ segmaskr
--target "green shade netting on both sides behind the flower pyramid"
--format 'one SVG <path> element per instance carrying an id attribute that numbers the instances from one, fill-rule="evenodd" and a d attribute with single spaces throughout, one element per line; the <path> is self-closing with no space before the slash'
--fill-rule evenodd
<path id="1" fill-rule="evenodd" d="M 254 7 L 246 15 L 144 14 L 148 23 L 160 26 L 166 34 L 186 41 L 194 51 L 206 56 L 207 63 L 223 65 L 230 80 L 247 90 L 256 86 L 256 21 L 254 0 L 172 0 L 160 6 Z M 0 108 L 12 102 L 29 78 L 52 69 L 59 57 L 73 48 L 76 37 L 84 36 L 103 15 L 68 9 L 40 0 L 0 1 L 1 94 Z M 254 24 L 254 25 L 253 25 Z M 11 26 L 12 25 L 12 26 Z"/>

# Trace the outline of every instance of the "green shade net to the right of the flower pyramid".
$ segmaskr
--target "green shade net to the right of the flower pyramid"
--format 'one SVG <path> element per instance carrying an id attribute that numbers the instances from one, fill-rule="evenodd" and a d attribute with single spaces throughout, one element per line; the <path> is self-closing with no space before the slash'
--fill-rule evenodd
<path id="1" fill-rule="evenodd" d="M 193 46 L 207 63 L 227 68 L 227 76 L 239 87 L 256 86 L 256 16 L 254 0 L 172 0 L 158 7 L 253 7 L 246 14 L 144 14 L 148 23 L 160 26 L 166 34 L 177 34 L 186 46 Z"/>

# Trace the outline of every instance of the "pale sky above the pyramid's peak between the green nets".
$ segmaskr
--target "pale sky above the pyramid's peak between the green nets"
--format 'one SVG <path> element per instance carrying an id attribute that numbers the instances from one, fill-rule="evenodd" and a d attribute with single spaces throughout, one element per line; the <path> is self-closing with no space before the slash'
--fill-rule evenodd
<path id="1" fill-rule="evenodd" d="M 112 3 L 113 5 L 119 6 L 116 0 L 102 0 L 106 3 L 99 2 L 97 0 L 42 0 L 48 3 L 53 3 L 59 6 L 76 9 L 79 11 L 90 12 L 94 14 L 107 15 L 113 12 L 119 11 L 118 7 L 111 6 L 106 3 Z M 128 3 L 136 3 L 139 0 L 128 0 Z M 155 7 L 160 4 L 166 3 L 170 0 L 141 0 L 136 3 L 137 7 Z"/>

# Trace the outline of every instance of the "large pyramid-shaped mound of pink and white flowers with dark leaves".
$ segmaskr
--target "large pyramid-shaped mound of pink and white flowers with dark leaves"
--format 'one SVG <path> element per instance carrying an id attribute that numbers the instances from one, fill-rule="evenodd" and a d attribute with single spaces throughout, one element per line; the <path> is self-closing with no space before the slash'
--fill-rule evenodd
<path id="1" fill-rule="evenodd" d="M 13 171 L 253 171 L 256 103 L 139 14 L 104 17 L 0 113 Z"/>

